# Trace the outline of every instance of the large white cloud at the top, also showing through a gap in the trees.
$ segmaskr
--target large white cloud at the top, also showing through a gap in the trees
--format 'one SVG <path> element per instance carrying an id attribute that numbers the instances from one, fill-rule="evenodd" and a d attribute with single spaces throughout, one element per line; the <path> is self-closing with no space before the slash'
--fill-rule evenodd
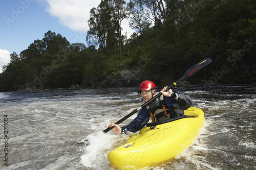
<path id="1" fill-rule="evenodd" d="M 101 0 L 37 0 L 38 4 L 47 6 L 46 11 L 57 17 L 63 26 L 82 33 L 89 31 L 90 11 L 93 7 L 97 7 L 100 2 Z M 127 30 L 128 37 L 134 32 L 126 19 L 122 21 L 122 28 L 124 35 Z"/>

